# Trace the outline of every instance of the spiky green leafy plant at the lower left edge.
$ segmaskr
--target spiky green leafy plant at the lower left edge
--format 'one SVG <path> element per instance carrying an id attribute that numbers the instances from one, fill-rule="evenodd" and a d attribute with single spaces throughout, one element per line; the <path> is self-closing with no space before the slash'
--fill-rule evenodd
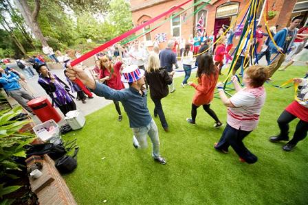
<path id="1" fill-rule="evenodd" d="M 14 157 L 25 157 L 25 145 L 33 141 L 33 135 L 28 133 L 19 133 L 19 130 L 30 123 L 30 121 L 12 120 L 21 113 L 21 107 L 11 110 L 0 110 L 0 178 L 4 176 L 15 178 L 16 176 L 9 175 L 8 169 L 19 170 L 20 166 L 15 162 Z M 3 188 L 0 184 L 0 197 L 16 191 L 20 186 L 7 186 Z"/>

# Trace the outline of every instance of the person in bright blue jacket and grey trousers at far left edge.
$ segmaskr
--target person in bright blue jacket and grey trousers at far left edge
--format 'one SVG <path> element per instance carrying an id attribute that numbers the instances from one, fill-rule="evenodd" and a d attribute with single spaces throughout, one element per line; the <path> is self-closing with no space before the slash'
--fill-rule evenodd
<path id="1" fill-rule="evenodd" d="M 27 102 L 33 97 L 29 95 L 19 84 L 19 76 L 11 71 L 5 71 L 0 67 L 0 84 L 2 84 L 4 90 L 10 97 L 14 98 L 25 110 L 32 113 L 31 108 L 27 105 Z"/>

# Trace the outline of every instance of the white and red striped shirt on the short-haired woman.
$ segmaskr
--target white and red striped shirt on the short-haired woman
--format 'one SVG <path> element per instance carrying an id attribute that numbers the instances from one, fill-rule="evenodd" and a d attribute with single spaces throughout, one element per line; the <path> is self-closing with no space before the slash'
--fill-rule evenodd
<path id="1" fill-rule="evenodd" d="M 265 103 L 265 89 L 243 88 L 230 98 L 235 108 L 228 108 L 227 122 L 236 130 L 252 131 L 259 123 L 261 108 Z"/>

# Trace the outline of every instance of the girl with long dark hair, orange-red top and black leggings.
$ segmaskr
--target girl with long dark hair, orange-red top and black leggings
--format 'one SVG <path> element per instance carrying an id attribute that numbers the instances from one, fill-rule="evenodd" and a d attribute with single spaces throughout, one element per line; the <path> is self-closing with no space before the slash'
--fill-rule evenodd
<path id="1" fill-rule="evenodd" d="M 215 128 L 220 128 L 223 125 L 223 123 L 219 121 L 214 110 L 210 108 L 210 103 L 214 98 L 214 89 L 217 84 L 218 73 L 219 71 L 214 65 L 212 55 L 209 53 L 203 53 L 200 56 L 200 60 L 198 62 L 198 84 L 188 82 L 188 85 L 196 89 L 195 96 L 192 99 L 191 118 L 186 119 L 188 123 L 196 123 L 197 108 L 199 108 L 199 106 L 203 106 L 203 110 L 208 112 L 210 117 L 215 120 Z"/>

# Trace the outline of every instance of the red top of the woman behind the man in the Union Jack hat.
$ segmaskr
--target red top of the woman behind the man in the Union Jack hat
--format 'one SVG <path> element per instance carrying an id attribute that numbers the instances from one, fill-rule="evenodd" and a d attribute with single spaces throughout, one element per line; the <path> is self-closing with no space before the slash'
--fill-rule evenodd
<path id="1" fill-rule="evenodd" d="M 123 89 L 124 84 L 121 81 L 121 73 L 120 73 L 121 66 L 122 62 L 120 61 L 114 64 L 113 72 L 111 71 L 112 74 L 107 69 L 104 70 L 100 69 L 99 79 L 104 78 L 106 76 L 110 76 L 110 79 L 105 81 L 107 86 L 115 90 Z"/>

